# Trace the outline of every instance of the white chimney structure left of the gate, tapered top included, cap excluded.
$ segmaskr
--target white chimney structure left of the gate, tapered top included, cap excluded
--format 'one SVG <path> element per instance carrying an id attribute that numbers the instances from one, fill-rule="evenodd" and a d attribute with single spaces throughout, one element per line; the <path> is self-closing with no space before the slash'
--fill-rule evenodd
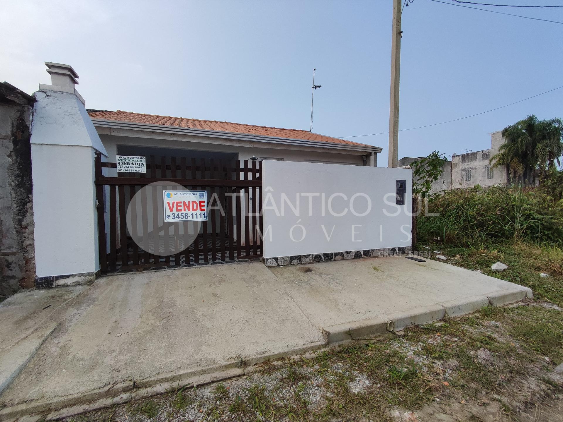
<path id="1" fill-rule="evenodd" d="M 35 269 L 38 277 L 92 280 L 100 269 L 94 154 L 106 154 L 82 101 L 69 92 L 35 94 L 32 122 Z"/>

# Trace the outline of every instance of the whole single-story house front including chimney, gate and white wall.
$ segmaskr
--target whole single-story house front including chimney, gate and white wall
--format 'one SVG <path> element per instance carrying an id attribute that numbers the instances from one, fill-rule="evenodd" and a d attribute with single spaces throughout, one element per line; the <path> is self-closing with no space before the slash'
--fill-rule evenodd
<path id="1" fill-rule="evenodd" d="M 307 130 L 87 110 L 72 66 L 46 66 L 51 84 L 33 95 L 26 140 L 33 195 L 22 201 L 33 209 L 35 287 L 120 269 L 408 252 L 412 176 L 377 167 L 382 148 Z M 118 155 L 140 157 L 131 170 L 142 171 L 124 170 Z M 180 212 L 179 200 L 177 212 L 167 208 L 165 197 L 186 190 L 203 198 L 199 217 Z"/>

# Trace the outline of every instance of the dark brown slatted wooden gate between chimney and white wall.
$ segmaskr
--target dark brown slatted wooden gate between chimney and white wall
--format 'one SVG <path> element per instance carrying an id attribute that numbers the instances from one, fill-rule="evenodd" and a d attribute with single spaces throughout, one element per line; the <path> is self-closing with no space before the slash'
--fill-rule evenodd
<path id="1" fill-rule="evenodd" d="M 262 250 L 262 162 L 248 160 L 205 160 L 186 157 L 146 157 L 146 173 L 120 173 L 117 177 L 104 176 L 102 169 L 117 167 L 115 162 L 102 162 L 96 153 L 96 198 L 99 228 L 100 266 L 103 272 L 123 269 L 179 267 L 201 265 L 216 261 L 235 261 L 259 258 Z M 113 170 L 115 172 L 115 170 Z M 141 188 L 151 183 L 173 182 L 190 190 L 207 190 L 208 207 L 224 212 L 209 212 L 195 241 L 173 255 L 150 253 L 133 241 L 136 233 L 129 233 L 125 224 L 127 205 Z M 166 186 L 166 184 L 164 184 Z M 175 190 L 171 185 L 168 190 Z M 144 192 L 141 192 L 144 194 Z M 214 203 L 211 203 L 214 202 Z M 109 203 L 109 207 L 106 207 Z M 154 223 L 156 203 L 151 210 Z M 145 224 L 148 207 L 132 207 L 131 226 Z M 140 223 L 140 222 L 143 223 Z M 160 242 L 163 233 L 165 247 L 178 244 L 175 223 L 163 223 L 154 230 L 153 242 Z M 142 235 L 148 235 L 143 227 Z M 133 229 L 135 232 L 136 229 Z M 173 231 L 173 234 L 169 233 Z"/>

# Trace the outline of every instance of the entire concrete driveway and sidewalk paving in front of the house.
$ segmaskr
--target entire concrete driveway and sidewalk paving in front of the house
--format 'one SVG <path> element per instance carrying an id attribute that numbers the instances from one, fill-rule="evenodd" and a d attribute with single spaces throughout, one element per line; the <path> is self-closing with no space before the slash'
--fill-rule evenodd
<path id="1" fill-rule="evenodd" d="M 0 304 L 1 420 L 242 375 L 264 360 L 531 296 L 405 257 L 128 273 L 39 292 Z M 16 348 L 25 355 L 17 365 Z"/>

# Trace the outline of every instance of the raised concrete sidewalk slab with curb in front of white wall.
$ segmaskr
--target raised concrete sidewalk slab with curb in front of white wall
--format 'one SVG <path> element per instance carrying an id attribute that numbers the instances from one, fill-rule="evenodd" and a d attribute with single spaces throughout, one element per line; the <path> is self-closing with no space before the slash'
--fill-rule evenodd
<path id="1" fill-rule="evenodd" d="M 271 270 L 302 312 L 323 328 L 329 343 L 532 297 L 531 290 L 521 285 L 425 261 L 388 257 Z"/>

